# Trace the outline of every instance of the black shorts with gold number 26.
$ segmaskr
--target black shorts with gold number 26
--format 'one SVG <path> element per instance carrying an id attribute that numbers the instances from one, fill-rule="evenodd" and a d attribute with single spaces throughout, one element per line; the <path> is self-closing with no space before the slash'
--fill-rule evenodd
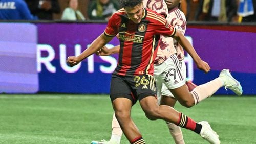
<path id="1" fill-rule="evenodd" d="M 147 96 L 157 98 L 155 78 L 151 75 L 120 76 L 112 74 L 110 85 L 110 98 L 127 98 L 133 104 Z"/>

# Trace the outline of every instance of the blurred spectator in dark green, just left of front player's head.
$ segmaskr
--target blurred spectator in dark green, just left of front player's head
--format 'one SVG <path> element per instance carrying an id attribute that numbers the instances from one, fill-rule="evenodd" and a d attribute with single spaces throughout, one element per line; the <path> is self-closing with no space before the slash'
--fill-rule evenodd
<path id="1" fill-rule="evenodd" d="M 115 0 L 92 0 L 88 5 L 88 16 L 92 20 L 109 20 L 119 9 L 120 5 Z"/>

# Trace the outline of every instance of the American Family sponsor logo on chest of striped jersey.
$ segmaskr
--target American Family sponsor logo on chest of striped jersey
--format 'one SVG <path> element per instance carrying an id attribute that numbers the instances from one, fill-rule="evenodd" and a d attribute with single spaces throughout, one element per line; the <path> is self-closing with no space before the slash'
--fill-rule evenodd
<path id="1" fill-rule="evenodd" d="M 123 41 L 132 41 L 136 43 L 142 43 L 144 36 L 134 35 L 127 32 L 119 32 L 119 39 Z"/>

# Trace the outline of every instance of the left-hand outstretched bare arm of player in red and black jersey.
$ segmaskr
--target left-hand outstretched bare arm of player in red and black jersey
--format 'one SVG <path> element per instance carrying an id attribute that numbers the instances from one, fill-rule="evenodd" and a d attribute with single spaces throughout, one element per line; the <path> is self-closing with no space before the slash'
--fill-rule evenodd
<path id="1" fill-rule="evenodd" d="M 67 58 L 67 63 L 69 66 L 75 66 L 83 59 L 89 57 L 90 55 L 96 53 L 101 47 L 103 47 L 106 43 L 111 41 L 113 37 L 105 36 L 102 33 L 98 38 L 96 38 L 92 44 L 88 47 L 88 49 L 84 50 L 79 56 L 70 56 Z"/>

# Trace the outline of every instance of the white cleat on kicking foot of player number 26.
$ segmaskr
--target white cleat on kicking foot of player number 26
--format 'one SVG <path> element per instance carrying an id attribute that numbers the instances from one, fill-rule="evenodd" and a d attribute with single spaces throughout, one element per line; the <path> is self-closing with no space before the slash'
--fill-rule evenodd
<path id="1" fill-rule="evenodd" d="M 200 136 L 206 139 L 209 143 L 219 144 L 221 141 L 219 140 L 219 135 L 211 129 L 210 125 L 206 121 L 199 122 L 198 124 L 202 125 L 202 130 L 200 132 Z"/>

